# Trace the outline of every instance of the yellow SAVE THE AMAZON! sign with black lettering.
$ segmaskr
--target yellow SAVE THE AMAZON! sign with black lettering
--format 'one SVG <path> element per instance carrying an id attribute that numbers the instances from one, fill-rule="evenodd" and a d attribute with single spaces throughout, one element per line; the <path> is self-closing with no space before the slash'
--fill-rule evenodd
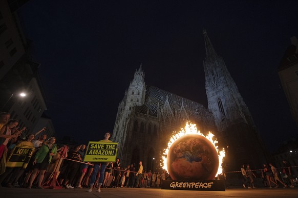
<path id="1" fill-rule="evenodd" d="M 84 162 L 116 162 L 117 142 L 90 141 L 84 157 Z"/>

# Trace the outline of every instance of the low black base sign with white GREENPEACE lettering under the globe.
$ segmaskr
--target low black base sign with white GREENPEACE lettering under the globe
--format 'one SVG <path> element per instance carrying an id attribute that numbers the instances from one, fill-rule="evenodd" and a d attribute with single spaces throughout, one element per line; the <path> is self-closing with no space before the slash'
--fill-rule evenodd
<path id="1" fill-rule="evenodd" d="M 225 191 L 223 180 L 165 180 L 161 189 Z"/>

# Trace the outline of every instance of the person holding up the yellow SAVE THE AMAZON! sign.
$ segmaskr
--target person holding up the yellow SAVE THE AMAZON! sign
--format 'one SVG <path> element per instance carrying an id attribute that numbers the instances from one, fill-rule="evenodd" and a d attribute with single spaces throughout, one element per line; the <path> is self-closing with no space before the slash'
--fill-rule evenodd
<path id="1" fill-rule="evenodd" d="M 109 140 L 110 136 L 111 136 L 110 132 L 105 133 L 104 134 L 104 139 L 100 140 L 100 142 L 112 142 L 111 140 Z M 104 163 L 95 163 L 94 164 L 94 169 L 93 169 L 93 172 L 92 172 L 92 175 L 91 175 L 91 178 L 90 178 L 89 189 L 87 190 L 87 192 L 92 192 L 92 188 L 93 188 L 93 185 L 94 185 L 95 180 L 96 180 L 96 175 L 97 175 L 97 172 L 99 170 L 99 165 L 100 165 L 100 177 L 99 177 L 99 180 L 98 180 L 98 188 L 97 188 L 96 192 L 100 192 L 100 186 L 101 186 L 103 178 L 104 178 L 105 167 L 107 167 L 106 162 L 104 162 Z"/>

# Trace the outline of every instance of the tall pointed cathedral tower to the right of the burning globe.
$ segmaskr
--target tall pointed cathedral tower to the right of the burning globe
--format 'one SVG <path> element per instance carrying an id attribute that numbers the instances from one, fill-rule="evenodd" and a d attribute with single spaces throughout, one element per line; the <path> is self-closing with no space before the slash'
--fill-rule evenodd
<path id="1" fill-rule="evenodd" d="M 206 30 L 203 34 L 208 109 L 214 115 L 221 142 L 228 146 L 228 169 L 239 169 L 242 163 L 259 167 L 265 162 L 261 137 L 223 58 L 215 52 Z"/>

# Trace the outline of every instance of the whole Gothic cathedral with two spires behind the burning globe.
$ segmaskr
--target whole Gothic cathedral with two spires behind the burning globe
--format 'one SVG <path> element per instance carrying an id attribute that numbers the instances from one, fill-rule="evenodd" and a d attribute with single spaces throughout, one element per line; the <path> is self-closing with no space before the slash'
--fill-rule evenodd
<path id="1" fill-rule="evenodd" d="M 240 165 L 259 167 L 265 162 L 265 148 L 250 112 L 217 55 L 206 31 L 205 86 L 208 109 L 203 105 L 157 87 L 146 85 L 142 65 L 134 73 L 116 116 L 112 141 L 119 143 L 122 164 L 138 164 L 144 169 L 159 166 L 161 152 L 173 131 L 190 120 L 201 132 L 212 131 L 227 150 L 225 171 Z"/>

